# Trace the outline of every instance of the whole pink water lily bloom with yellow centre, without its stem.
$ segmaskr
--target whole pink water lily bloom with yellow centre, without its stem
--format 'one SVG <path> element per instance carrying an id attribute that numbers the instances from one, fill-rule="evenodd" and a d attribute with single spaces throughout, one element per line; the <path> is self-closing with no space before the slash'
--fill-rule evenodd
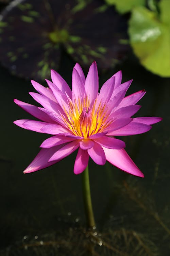
<path id="1" fill-rule="evenodd" d="M 146 91 L 125 97 L 132 80 L 122 83 L 121 71 L 114 74 L 98 93 L 98 71 L 94 61 L 85 78 L 77 63 L 72 73 L 72 91 L 65 80 L 51 70 L 51 81 L 44 87 L 31 81 L 38 93 L 30 93 L 42 105 L 37 107 L 17 99 L 14 102 L 40 121 L 22 119 L 14 123 L 24 129 L 51 134 L 24 173 L 54 165 L 78 149 L 74 173 L 79 174 L 88 165 L 89 156 L 98 165 L 106 160 L 119 169 L 143 177 L 124 150 L 125 143 L 115 136 L 149 131 L 159 117 L 132 118 L 139 109 L 136 103 Z"/>

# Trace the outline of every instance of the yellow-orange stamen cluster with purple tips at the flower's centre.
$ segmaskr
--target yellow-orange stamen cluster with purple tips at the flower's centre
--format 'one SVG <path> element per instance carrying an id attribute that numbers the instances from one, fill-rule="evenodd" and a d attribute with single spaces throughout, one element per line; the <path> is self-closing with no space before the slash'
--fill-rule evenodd
<path id="1" fill-rule="evenodd" d="M 97 99 L 90 108 L 87 98 L 74 103 L 69 100 L 68 111 L 65 109 L 66 116 L 62 115 L 62 118 L 74 135 L 87 139 L 92 134 L 102 132 L 111 123 L 105 103 L 100 102 L 96 107 L 96 102 Z"/>

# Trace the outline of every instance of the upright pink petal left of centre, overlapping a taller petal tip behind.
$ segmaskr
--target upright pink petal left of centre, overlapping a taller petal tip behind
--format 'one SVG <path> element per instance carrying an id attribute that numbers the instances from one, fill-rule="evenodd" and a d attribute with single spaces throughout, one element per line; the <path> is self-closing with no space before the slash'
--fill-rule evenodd
<path id="1" fill-rule="evenodd" d="M 84 83 L 78 73 L 78 71 L 73 68 L 72 73 L 72 99 L 77 100 L 84 99 L 86 95 Z"/>

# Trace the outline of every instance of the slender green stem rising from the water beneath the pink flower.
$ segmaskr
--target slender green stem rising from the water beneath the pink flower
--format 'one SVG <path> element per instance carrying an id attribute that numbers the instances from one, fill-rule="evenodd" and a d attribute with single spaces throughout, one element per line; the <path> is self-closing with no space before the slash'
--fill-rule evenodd
<path id="1" fill-rule="evenodd" d="M 82 172 L 82 189 L 83 189 L 83 199 L 84 199 L 84 208 L 86 213 L 87 225 L 89 228 L 92 228 L 92 227 L 95 227 L 96 224 L 95 224 L 95 218 L 94 218 L 92 203 L 91 203 L 88 166 Z"/>

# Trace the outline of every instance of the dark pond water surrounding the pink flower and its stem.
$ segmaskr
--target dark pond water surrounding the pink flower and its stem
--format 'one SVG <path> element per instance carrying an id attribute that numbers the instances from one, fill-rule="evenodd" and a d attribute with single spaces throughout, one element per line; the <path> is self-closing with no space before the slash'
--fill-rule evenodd
<path id="1" fill-rule="evenodd" d="M 59 71 L 69 84 L 73 66 L 64 60 Z M 164 120 L 146 134 L 123 138 L 145 179 L 89 162 L 97 223 L 92 233 L 85 230 L 81 176 L 73 174 L 76 153 L 48 169 L 22 173 L 47 135 L 12 123 L 31 119 L 13 98 L 34 104 L 28 94 L 33 88 L 0 69 L 0 255 L 170 255 L 170 79 L 152 75 L 133 61 L 120 68 L 123 81 L 134 79 L 128 94 L 147 90 L 136 116 Z M 113 73 L 100 74 L 100 86 Z"/>

